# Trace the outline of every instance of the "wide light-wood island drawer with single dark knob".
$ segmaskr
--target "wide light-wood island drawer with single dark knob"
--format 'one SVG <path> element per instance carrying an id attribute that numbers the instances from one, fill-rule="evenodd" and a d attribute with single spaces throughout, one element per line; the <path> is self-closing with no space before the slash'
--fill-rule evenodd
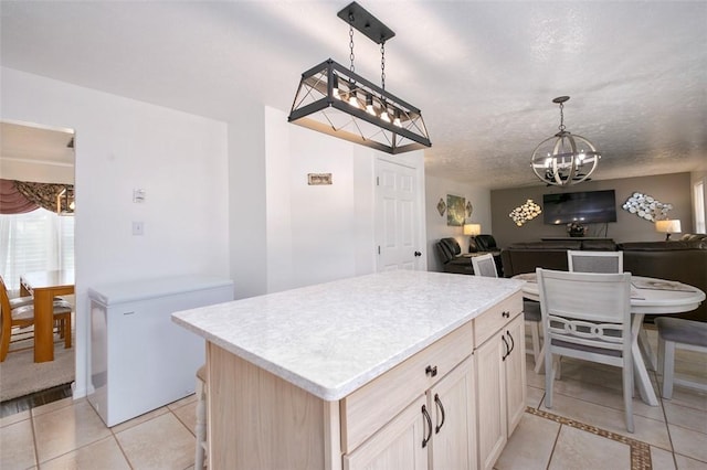
<path id="1" fill-rule="evenodd" d="M 474 350 L 468 322 L 341 400 L 341 450 L 347 453 L 444 377 Z M 425 372 L 428 366 L 436 373 Z"/>

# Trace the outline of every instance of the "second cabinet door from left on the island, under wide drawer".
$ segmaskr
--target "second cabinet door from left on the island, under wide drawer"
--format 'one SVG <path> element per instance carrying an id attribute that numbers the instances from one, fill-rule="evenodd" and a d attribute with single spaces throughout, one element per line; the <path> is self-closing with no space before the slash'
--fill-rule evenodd
<path id="1" fill-rule="evenodd" d="M 433 469 L 476 469 L 474 362 L 467 357 L 429 393 Z"/>

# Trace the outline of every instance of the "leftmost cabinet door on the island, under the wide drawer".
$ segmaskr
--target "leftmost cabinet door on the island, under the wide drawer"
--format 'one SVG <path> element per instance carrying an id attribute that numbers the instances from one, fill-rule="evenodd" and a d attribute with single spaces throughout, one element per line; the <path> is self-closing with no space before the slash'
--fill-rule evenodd
<path id="1" fill-rule="evenodd" d="M 429 444 L 422 447 L 422 441 L 429 438 L 430 429 L 422 413 L 423 406 L 430 413 L 425 395 L 415 399 L 354 452 L 344 456 L 344 469 L 426 470 Z"/>

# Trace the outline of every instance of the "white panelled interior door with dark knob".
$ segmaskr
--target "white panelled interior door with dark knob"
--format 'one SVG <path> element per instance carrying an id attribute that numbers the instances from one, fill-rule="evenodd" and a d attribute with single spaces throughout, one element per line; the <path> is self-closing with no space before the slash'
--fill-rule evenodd
<path id="1" fill-rule="evenodd" d="M 377 270 L 421 269 L 416 170 L 380 159 L 376 164 Z"/>

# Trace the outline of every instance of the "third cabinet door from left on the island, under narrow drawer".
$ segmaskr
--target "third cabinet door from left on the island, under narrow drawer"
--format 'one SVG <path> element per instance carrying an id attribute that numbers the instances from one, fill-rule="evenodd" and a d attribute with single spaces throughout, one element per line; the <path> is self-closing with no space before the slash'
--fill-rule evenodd
<path id="1" fill-rule="evenodd" d="M 503 361 L 508 348 L 499 331 L 476 352 L 476 428 L 478 435 L 478 468 L 489 469 L 496 462 L 508 439 L 506 421 L 506 373 Z"/>

